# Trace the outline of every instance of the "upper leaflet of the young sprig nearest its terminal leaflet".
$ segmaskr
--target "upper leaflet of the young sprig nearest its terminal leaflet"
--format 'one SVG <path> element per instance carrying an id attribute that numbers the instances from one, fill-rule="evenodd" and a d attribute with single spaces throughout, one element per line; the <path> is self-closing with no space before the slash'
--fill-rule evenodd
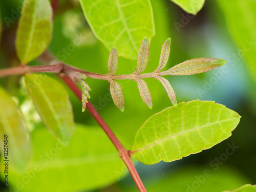
<path id="1" fill-rule="evenodd" d="M 156 73 L 161 71 L 166 66 L 166 63 L 169 58 L 169 54 L 170 54 L 170 38 L 167 38 L 162 46 L 162 51 L 161 51 L 160 60 L 159 60 L 159 66 L 155 70 Z"/>

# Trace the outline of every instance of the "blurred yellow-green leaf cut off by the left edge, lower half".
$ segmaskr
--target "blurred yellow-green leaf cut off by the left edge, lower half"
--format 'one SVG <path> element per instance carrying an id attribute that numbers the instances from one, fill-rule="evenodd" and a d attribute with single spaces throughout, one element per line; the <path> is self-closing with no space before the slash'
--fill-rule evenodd
<path id="1" fill-rule="evenodd" d="M 10 160 L 11 168 L 17 172 L 24 172 L 32 151 L 30 135 L 16 103 L 1 87 L 0 108 L 0 152 L 2 159 Z M 8 153 L 7 159 L 4 156 L 6 153 Z"/>

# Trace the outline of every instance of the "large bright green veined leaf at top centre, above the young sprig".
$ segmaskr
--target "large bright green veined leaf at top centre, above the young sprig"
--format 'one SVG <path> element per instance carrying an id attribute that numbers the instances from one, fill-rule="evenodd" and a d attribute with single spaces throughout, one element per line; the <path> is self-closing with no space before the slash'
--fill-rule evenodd
<path id="1" fill-rule="evenodd" d="M 80 0 L 95 36 L 119 56 L 136 59 L 144 36 L 155 35 L 152 6 L 149 0 Z"/>

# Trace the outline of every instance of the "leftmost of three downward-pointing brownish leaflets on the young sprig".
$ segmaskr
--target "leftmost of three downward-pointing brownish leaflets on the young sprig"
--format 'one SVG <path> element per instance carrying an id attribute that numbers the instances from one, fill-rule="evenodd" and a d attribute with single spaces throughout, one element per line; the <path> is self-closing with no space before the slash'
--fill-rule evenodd
<path id="1" fill-rule="evenodd" d="M 113 98 L 115 105 L 119 108 L 121 112 L 124 111 L 124 98 L 123 92 L 120 84 L 114 80 L 110 81 L 110 93 Z"/>

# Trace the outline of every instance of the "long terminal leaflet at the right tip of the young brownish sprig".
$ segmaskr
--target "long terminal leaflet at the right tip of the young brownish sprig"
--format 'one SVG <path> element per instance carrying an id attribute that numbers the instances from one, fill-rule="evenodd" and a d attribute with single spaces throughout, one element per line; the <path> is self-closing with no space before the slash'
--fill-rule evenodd
<path id="1" fill-rule="evenodd" d="M 206 71 L 213 70 L 225 65 L 226 61 L 223 59 L 212 59 L 208 58 L 198 58 L 186 60 L 169 70 L 167 70 L 168 75 L 194 75 L 197 73 L 203 73 Z"/>

